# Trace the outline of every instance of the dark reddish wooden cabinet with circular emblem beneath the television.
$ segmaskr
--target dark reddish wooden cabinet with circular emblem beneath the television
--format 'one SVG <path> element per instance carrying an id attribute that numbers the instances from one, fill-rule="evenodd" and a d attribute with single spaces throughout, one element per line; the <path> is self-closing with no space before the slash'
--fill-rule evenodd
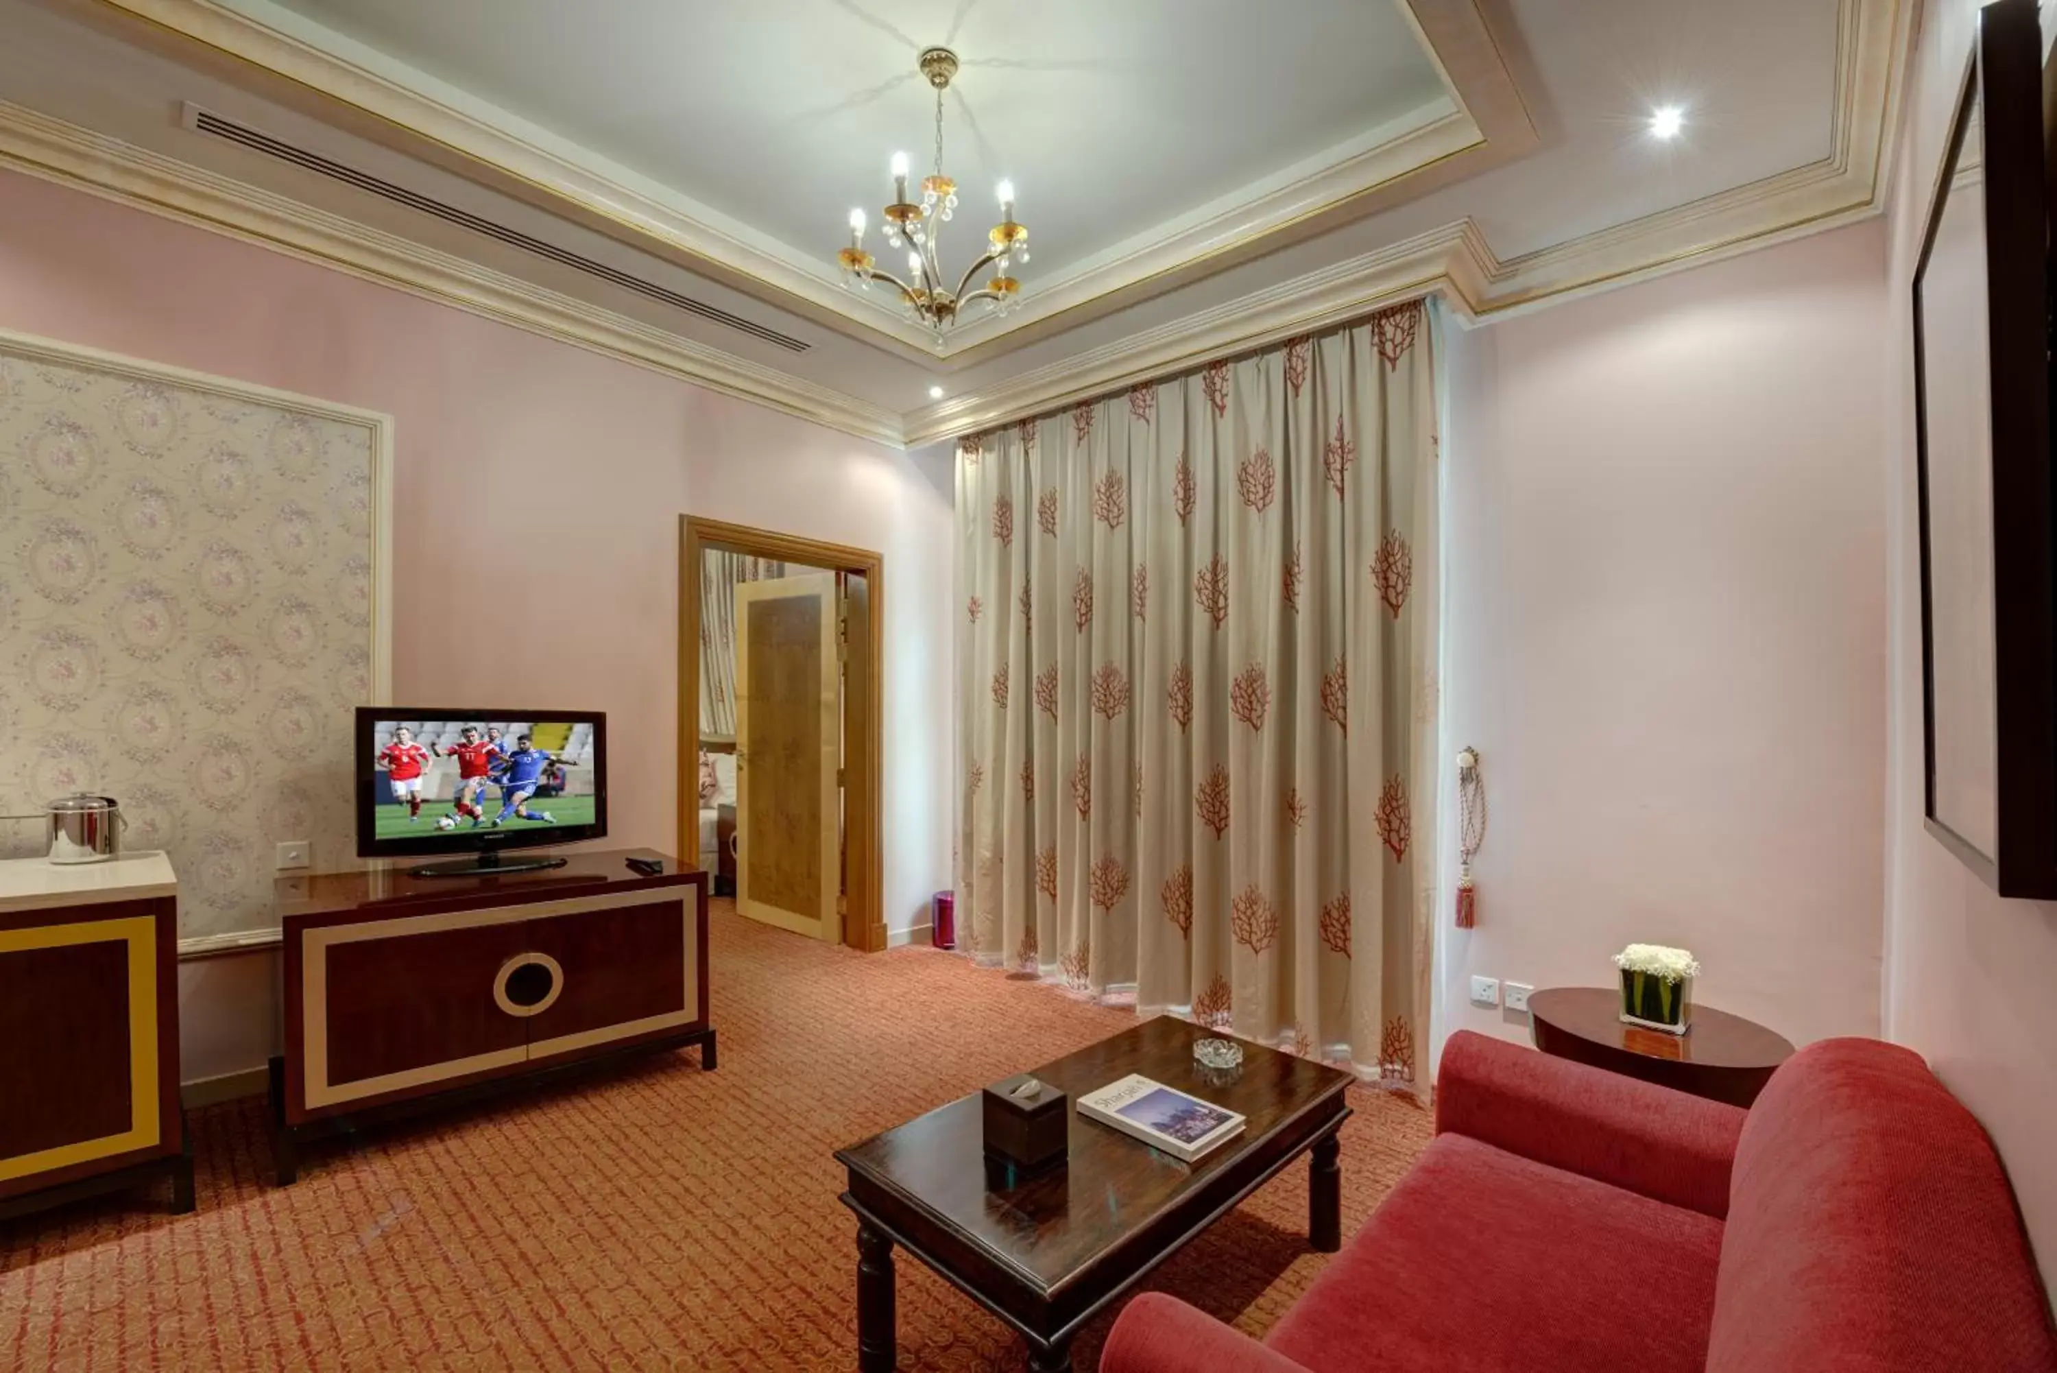
<path id="1" fill-rule="evenodd" d="M 424 1103 L 627 1050 L 701 1046 L 708 875 L 642 850 L 564 869 L 280 881 L 284 1044 L 274 1066 L 280 1182 L 296 1145 Z"/>

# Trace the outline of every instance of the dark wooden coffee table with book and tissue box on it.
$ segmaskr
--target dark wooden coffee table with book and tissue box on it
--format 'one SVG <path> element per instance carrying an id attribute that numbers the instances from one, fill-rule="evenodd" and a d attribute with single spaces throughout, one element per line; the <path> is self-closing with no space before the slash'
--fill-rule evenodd
<path id="1" fill-rule="evenodd" d="M 1308 1237 L 1316 1249 L 1341 1247 L 1335 1132 L 1349 1116 L 1351 1075 L 1244 1042 L 1242 1068 L 1214 1085 L 1193 1064 L 1193 1042 L 1207 1033 L 1158 1017 L 1035 1068 L 1070 1097 L 1072 1151 L 1033 1177 L 989 1169 L 975 1093 L 839 1149 L 843 1204 L 858 1212 L 858 1367 L 893 1367 L 895 1245 L 1020 1330 L 1039 1373 L 1070 1369 L 1080 1326 L 1302 1153 L 1312 1153 Z M 1181 1163 L 1078 1116 L 1080 1095 L 1129 1072 L 1249 1124 Z"/>

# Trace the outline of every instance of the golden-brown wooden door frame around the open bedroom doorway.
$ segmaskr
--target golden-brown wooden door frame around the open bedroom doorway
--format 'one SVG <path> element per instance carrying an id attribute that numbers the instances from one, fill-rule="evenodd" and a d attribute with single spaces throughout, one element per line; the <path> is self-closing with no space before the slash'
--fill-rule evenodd
<path id="1" fill-rule="evenodd" d="M 885 735 L 885 558 L 864 548 L 802 539 L 792 533 L 679 517 L 679 852 L 699 856 L 699 570 L 706 550 L 798 562 L 829 572 L 858 572 L 870 599 L 870 634 L 850 644 L 845 681 L 860 679 L 868 700 L 845 739 L 843 766 L 843 943 L 876 953 L 887 947 L 885 840 L 880 834 Z M 847 712 L 845 712 L 847 718 Z M 845 727 L 847 729 L 847 727 Z M 856 760 L 856 768 L 852 768 Z M 852 784 L 850 774 L 858 780 Z"/>

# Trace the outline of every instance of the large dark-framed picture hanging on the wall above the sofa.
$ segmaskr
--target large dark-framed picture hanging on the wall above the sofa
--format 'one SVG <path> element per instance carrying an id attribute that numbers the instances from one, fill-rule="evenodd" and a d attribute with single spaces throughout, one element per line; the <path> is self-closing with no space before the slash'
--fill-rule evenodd
<path id="1" fill-rule="evenodd" d="M 2057 895 L 2057 511 L 2036 0 L 1981 10 L 1913 280 L 1927 832 Z"/>

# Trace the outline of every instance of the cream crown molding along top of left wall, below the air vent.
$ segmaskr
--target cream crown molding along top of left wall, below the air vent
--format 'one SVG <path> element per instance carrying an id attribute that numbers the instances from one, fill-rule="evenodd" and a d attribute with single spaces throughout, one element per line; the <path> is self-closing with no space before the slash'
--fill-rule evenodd
<path id="1" fill-rule="evenodd" d="M 627 315 L 0 101 L 0 167 L 257 243 L 381 286 L 899 447 L 901 418 Z"/>

